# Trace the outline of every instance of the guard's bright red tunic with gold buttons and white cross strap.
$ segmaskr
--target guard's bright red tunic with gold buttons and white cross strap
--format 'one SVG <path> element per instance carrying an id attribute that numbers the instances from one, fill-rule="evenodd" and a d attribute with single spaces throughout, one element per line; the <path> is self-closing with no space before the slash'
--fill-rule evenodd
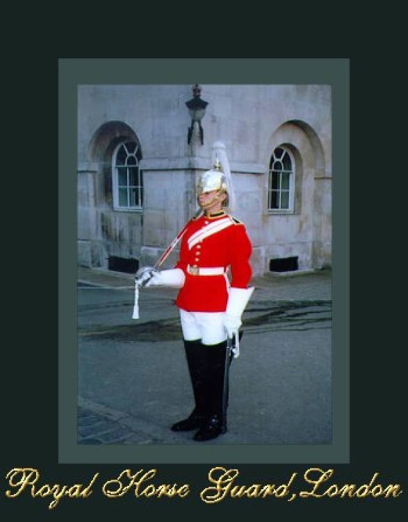
<path id="1" fill-rule="evenodd" d="M 188 273 L 188 265 L 229 269 L 231 287 L 247 288 L 252 276 L 252 245 L 244 224 L 220 212 L 191 220 L 181 238 L 177 268 L 186 281 L 175 304 L 188 312 L 225 312 L 228 288 L 225 275 L 204 276 Z"/>

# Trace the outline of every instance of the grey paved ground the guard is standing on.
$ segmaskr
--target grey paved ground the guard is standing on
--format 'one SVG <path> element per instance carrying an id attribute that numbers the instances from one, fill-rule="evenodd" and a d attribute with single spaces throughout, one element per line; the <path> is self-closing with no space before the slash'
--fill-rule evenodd
<path id="1" fill-rule="evenodd" d="M 241 354 L 230 371 L 229 430 L 196 443 L 169 427 L 193 404 L 177 290 L 140 291 L 133 276 L 79 268 L 81 445 L 329 444 L 332 441 L 330 271 L 254 278 Z"/>

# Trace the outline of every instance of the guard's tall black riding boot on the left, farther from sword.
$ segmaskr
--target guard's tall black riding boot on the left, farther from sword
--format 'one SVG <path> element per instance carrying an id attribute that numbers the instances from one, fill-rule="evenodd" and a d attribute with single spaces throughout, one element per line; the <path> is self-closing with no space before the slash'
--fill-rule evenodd
<path id="1" fill-rule="evenodd" d="M 201 427 L 208 418 L 208 406 L 206 397 L 206 378 L 209 371 L 208 347 L 202 345 L 200 340 L 184 341 L 184 349 L 190 372 L 190 381 L 193 387 L 195 408 L 190 416 L 172 425 L 173 432 L 189 432 L 191 429 Z"/>

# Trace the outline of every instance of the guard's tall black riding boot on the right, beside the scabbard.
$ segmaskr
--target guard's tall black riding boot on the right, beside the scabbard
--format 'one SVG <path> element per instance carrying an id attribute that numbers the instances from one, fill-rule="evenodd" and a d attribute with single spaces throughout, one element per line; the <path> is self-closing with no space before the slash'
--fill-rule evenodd
<path id="1" fill-rule="evenodd" d="M 209 416 L 194 435 L 195 441 L 209 441 L 227 432 L 228 372 L 225 372 L 227 341 L 205 347 L 209 355 L 209 381 L 206 390 Z"/>

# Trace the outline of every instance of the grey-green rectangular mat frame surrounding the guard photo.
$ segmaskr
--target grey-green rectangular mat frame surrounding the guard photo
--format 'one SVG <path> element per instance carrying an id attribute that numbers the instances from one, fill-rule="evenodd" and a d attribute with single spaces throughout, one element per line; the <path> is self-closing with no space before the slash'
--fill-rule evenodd
<path id="1" fill-rule="evenodd" d="M 326 84 L 333 110 L 331 445 L 83 446 L 76 441 L 76 170 L 80 84 Z M 60 58 L 58 61 L 58 462 L 202 464 L 350 461 L 348 58 Z"/>

